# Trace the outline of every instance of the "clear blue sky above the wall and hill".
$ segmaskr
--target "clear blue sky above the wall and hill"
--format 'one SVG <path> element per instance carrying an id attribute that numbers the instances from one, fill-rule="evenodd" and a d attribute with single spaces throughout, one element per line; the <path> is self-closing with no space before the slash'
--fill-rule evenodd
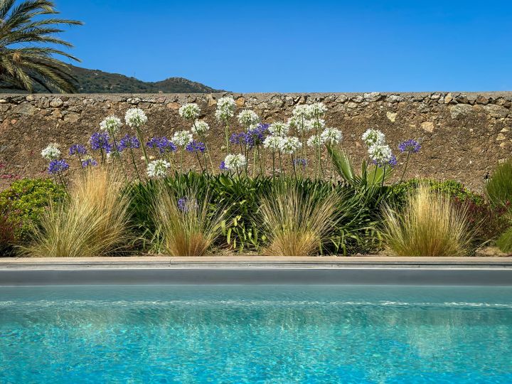
<path id="1" fill-rule="evenodd" d="M 55 0 L 81 66 L 233 92 L 512 90 L 512 1 Z"/>

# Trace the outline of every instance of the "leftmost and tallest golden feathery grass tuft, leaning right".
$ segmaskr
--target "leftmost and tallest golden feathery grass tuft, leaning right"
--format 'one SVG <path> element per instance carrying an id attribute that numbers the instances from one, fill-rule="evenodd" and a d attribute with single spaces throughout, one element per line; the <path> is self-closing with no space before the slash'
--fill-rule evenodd
<path id="1" fill-rule="evenodd" d="M 22 251 L 35 257 L 112 255 L 129 242 L 129 198 L 114 169 L 89 169 L 63 203 L 52 203 Z"/>

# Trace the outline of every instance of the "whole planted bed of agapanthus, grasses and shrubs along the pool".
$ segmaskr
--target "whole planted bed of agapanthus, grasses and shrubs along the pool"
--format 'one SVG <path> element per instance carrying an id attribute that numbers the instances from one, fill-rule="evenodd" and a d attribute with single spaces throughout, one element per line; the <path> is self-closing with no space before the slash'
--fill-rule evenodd
<path id="1" fill-rule="evenodd" d="M 326 126 L 321 102 L 294 107 L 287 122 L 235 119 L 231 97 L 215 117 L 225 159 L 213 164 L 198 105 L 179 112 L 171 138 L 146 137 L 149 117 L 106 117 L 88 145 L 41 151 L 49 178 L 0 193 L 0 252 L 32 257 L 256 255 L 506 255 L 512 251 L 512 163 L 472 193 L 457 181 L 408 179 L 417 139 L 388 143 L 367 129 L 361 169 Z M 195 159 L 194 169 L 184 161 Z M 74 162 L 73 162 L 74 161 Z M 359 161 L 358 161 L 359 162 Z M 81 176 L 68 178 L 78 164 Z M 498 245 L 501 253 L 489 248 Z"/>

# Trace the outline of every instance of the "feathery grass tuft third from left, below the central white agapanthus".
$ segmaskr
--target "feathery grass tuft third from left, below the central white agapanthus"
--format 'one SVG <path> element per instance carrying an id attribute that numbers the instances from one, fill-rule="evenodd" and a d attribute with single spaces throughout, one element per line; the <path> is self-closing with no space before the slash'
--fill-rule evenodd
<path id="1" fill-rule="evenodd" d="M 321 249 L 335 226 L 339 203 L 335 191 L 302 193 L 293 183 L 262 198 L 260 212 L 269 240 L 264 250 L 273 256 L 312 256 Z"/>

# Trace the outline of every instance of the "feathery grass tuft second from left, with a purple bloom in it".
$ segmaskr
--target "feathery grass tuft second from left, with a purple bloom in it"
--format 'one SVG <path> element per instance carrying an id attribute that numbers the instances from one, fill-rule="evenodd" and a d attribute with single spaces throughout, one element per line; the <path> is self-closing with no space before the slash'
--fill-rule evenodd
<path id="1" fill-rule="evenodd" d="M 196 196 L 193 188 L 185 196 L 176 196 L 162 187 L 154 201 L 162 248 L 171 256 L 203 256 L 222 233 L 225 211 L 210 206 L 208 193 L 202 201 Z"/>

